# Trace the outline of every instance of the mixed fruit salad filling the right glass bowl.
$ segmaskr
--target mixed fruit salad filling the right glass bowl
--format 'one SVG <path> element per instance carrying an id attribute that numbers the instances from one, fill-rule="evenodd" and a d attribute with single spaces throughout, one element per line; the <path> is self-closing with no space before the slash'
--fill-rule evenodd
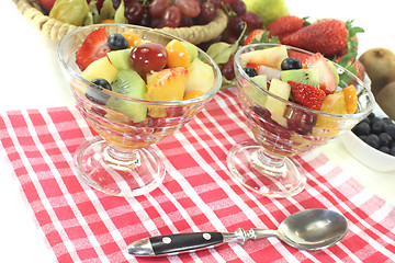
<path id="1" fill-rule="evenodd" d="M 248 124 L 267 150 L 293 156 L 357 124 L 364 114 L 359 113 L 356 88 L 360 80 L 319 53 L 268 46 L 245 47 L 237 65 Z"/>

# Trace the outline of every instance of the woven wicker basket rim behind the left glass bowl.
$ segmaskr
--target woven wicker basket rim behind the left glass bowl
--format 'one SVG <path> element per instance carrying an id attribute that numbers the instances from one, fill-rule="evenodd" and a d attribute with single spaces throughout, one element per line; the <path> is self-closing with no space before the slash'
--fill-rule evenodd
<path id="1" fill-rule="evenodd" d="M 30 21 L 30 23 L 45 36 L 54 42 L 59 42 L 70 31 L 78 26 L 66 24 L 58 20 L 52 19 L 43 13 L 36 0 L 12 0 L 21 14 Z M 206 25 L 194 25 L 191 27 L 170 28 L 163 27 L 159 31 L 176 35 L 193 44 L 200 44 L 216 38 L 227 25 L 227 16 L 218 10 L 214 20 Z"/>

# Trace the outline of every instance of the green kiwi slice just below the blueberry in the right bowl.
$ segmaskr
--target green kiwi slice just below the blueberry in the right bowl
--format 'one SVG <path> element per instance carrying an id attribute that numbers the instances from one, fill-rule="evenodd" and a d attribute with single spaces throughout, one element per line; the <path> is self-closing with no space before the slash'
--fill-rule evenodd
<path id="1" fill-rule="evenodd" d="M 281 80 L 287 82 L 290 80 L 319 87 L 319 72 L 317 68 L 293 69 L 281 71 Z"/>

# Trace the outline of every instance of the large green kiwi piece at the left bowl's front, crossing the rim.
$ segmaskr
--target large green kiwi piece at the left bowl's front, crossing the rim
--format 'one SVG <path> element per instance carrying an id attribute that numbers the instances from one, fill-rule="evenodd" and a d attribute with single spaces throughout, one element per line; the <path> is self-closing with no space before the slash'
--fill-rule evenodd
<path id="1" fill-rule="evenodd" d="M 121 70 L 112 83 L 112 89 L 122 95 L 146 99 L 146 83 L 133 69 Z M 145 103 L 121 100 L 115 96 L 109 99 L 106 106 L 129 115 L 135 123 L 143 122 L 147 115 L 147 105 Z"/>

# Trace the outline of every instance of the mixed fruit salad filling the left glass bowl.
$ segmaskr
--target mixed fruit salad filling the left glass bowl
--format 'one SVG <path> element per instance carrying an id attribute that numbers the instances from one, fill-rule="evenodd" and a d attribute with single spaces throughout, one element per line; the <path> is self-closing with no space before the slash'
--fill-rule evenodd
<path id="1" fill-rule="evenodd" d="M 218 90 L 219 70 L 190 43 L 115 27 L 100 26 L 82 41 L 75 53 L 82 79 L 71 87 L 87 122 L 105 140 L 142 148 L 192 118 Z"/>

